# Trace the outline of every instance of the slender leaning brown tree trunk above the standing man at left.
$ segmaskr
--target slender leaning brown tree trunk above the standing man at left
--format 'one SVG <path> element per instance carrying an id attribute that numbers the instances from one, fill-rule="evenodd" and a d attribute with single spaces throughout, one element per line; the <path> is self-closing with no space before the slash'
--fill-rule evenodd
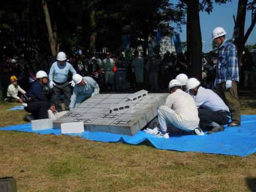
<path id="1" fill-rule="evenodd" d="M 52 56 L 56 57 L 57 56 L 57 38 L 56 38 L 57 35 L 56 33 L 53 33 L 53 30 L 52 30 L 51 18 L 48 11 L 46 0 L 42 0 L 42 8 L 44 9 L 44 12 L 45 12 L 46 26 L 49 34 L 49 43 L 52 51 Z"/>

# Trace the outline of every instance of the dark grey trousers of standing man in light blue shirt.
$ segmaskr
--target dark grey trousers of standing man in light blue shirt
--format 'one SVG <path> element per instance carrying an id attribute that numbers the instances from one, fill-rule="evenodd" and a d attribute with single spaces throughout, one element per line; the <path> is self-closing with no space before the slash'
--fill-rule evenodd
<path id="1" fill-rule="evenodd" d="M 65 104 L 65 110 L 69 111 L 69 104 L 70 104 L 70 98 L 71 98 L 71 87 L 69 82 L 65 82 L 61 85 L 58 85 L 57 83 L 55 86 L 53 86 L 53 102 L 55 105 L 55 110 L 60 112 L 62 111 L 61 103 L 60 103 L 60 95 L 64 95 L 64 104 Z"/>

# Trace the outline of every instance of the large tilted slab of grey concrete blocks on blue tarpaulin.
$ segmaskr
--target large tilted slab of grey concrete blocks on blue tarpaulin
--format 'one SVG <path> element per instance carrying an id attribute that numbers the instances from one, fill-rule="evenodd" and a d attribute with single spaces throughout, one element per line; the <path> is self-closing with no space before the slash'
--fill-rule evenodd
<path id="1" fill-rule="evenodd" d="M 61 123 L 83 122 L 87 131 L 135 135 L 158 115 L 167 96 L 168 93 L 148 94 L 145 90 L 134 94 L 97 94 L 53 124 L 60 129 Z"/>

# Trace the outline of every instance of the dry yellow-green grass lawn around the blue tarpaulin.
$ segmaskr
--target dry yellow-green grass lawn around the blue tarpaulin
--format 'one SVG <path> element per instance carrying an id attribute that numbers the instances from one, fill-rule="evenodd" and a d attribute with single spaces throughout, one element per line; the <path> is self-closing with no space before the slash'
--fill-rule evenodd
<path id="1" fill-rule="evenodd" d="M 240 97 L 256 114 L 254 96 Z M 0 104 L 0 127 L 26 123 Z M 256 191 L 256 153 L 247 157 L 158 150 L 67 135 L 0 131 L 0 177 L 18 191 Z"/>

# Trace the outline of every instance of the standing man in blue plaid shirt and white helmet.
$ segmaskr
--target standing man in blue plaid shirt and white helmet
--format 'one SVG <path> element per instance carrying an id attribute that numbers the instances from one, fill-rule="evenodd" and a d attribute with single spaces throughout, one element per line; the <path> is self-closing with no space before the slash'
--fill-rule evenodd
<path id="1" fill-rule="evenodd" d="M 228 126 L 238 126 L 241 124 L 241 114 L 237 91 L 237 82 L 239 82 L 237 47 L 226 40 L 225 35 L 226 31 L 221 27 L 215 28 L 212 32 L 212 39 L 219 46 L 215 84 L 217 94 L 225 101 L 231 113 L 232 122 Z"/>

